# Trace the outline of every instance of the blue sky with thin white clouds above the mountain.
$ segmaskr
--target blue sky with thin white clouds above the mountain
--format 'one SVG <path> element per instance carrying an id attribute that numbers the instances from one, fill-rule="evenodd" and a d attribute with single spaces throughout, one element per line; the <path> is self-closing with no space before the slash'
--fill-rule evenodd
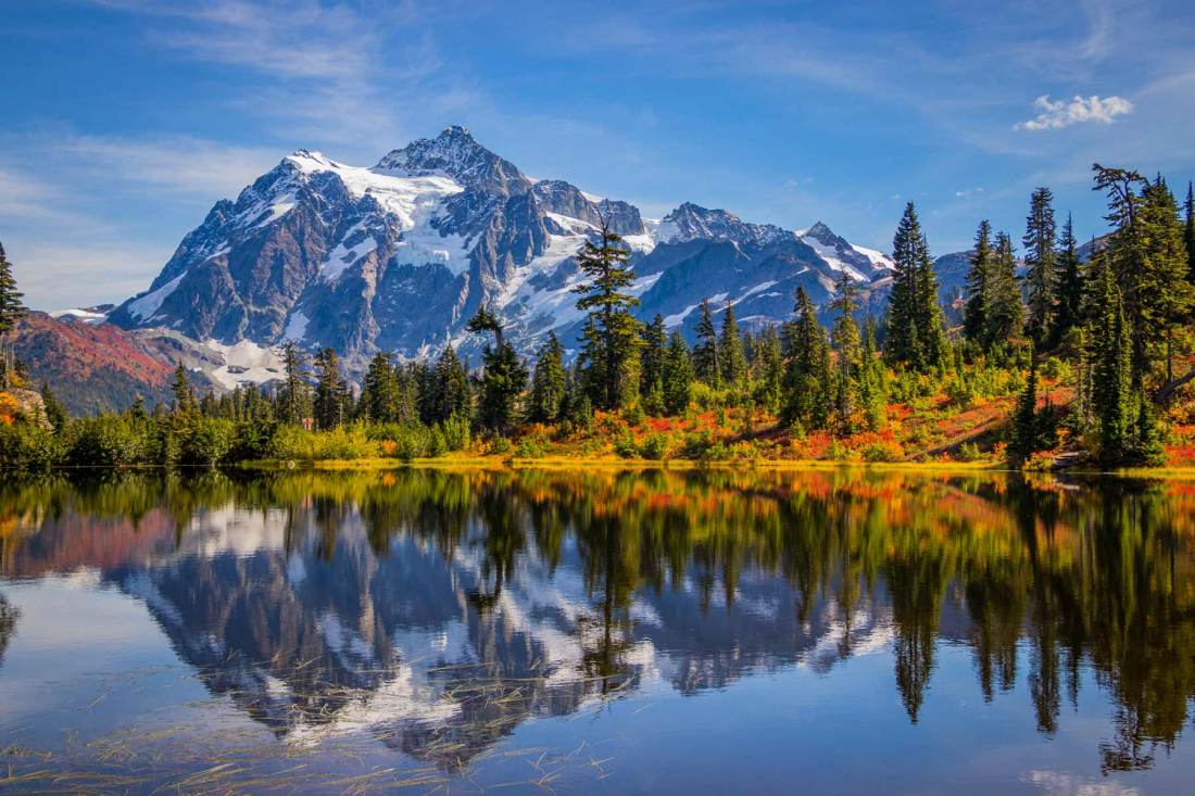
<path id="1" fill-rule="evenodd" d="M 1195 177 L 1188 2 L 0 0 L 0 241 L 37 308 L 143 289 L 295 148 L 372 164 L 460 123 L 534 177 L 888 250 L 1019 239 L 1092 161 Z"/>

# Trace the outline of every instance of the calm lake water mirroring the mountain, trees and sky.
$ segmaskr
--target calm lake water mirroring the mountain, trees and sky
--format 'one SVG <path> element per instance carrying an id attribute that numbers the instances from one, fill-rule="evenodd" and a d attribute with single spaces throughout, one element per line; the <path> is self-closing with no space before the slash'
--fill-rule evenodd
<path id="1" fill-rule="evenodd" d="M 1191 482 L 0 484 L 5 792 L 1190 794 L 1193 697 Z"/>

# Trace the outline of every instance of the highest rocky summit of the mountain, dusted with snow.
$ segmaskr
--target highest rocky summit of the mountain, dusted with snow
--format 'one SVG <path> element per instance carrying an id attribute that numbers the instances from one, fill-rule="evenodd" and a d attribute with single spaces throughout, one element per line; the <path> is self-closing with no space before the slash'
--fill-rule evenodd
<path id="1" fill-rule="evenodd" d="M 483 147 L 460 125 L 446 128 L 435 139 L 419 139 L 394 149 L 374 169 L 415 177 L 447 174 L 465 188 L 502 196 L 526 194 L 532 186 L 513 163 Z"/>

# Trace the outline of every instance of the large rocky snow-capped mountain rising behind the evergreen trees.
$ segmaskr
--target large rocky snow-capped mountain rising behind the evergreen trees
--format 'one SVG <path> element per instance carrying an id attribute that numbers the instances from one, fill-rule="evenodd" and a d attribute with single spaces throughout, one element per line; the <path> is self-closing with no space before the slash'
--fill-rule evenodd
<path id="1" fill-rule="evenodd" d="M 734 302 L 748 324 L 778 323 L 797 286 L 825 304 L 844 271 L 878 301 L 891 268 L 821 222 L 792 232 L 692 203 L 644 219 L 626 202 L 533 180 L 449 127 L 372 167 L 305 149 L 283 158 L 235 202 L 217 202 L 108 320 L 228 350 L 330 345 L 358 368 L 378 350 L 473 348 L 464 326 L 488 306 L 525 351 L 550 330 L 570 347 L 581 322 L 572 256 L 602 219 L 633 252 L 641 317 L 670 326 L 688 329 L 703 296 L 719 311 Z"/>

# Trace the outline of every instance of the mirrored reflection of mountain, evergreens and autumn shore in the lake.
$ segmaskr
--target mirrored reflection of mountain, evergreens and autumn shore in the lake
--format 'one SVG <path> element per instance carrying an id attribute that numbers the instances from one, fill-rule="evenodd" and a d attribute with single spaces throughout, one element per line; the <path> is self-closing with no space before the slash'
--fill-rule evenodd
<path id="1" fill-rule="evenodd" d="M 458 771 L 534 717 L 876 650 L 917 723 L 960 644 L 985 700 L 1025 678 L 1047 737 L 1090 668 L 1107 772 L 1187 722 L 1193 518 L 1190 484 L 981 474 L 49 478 L 0 488 L 0 574 L 143 601 L 288 743 L 364 733 Z M 0 599 L 0 662 L 19 624 Z"/>

